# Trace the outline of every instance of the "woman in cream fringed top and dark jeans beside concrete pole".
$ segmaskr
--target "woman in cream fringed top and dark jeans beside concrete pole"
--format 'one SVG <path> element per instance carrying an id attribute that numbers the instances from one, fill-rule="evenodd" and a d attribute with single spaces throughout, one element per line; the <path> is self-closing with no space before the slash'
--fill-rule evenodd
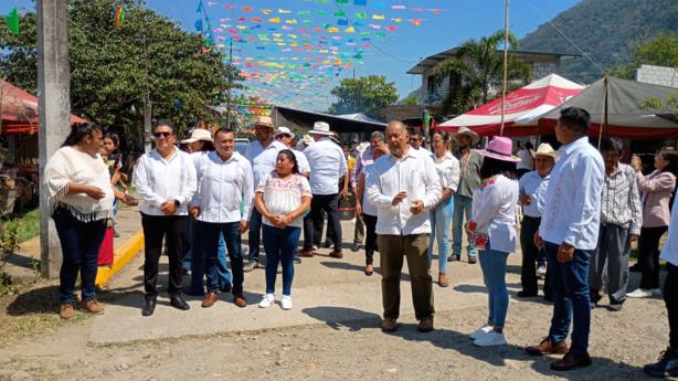
<path id="1" fill-rule="evenodd" d="M 82 309 L 93 314 L 104 311 L 95 300 L 94 281 L 106 220 L 113 216 L 115 197 L 125 202 L 134 200 L 112 187 L 108 168 L 99 156 L 102 145 L 100 126 L 73 125 L 71 135 L 45 166 L 45 189 L 63 255 L 60 271 L 62 319 L 75 317 L 73 303 L 78 272 Z"/>

